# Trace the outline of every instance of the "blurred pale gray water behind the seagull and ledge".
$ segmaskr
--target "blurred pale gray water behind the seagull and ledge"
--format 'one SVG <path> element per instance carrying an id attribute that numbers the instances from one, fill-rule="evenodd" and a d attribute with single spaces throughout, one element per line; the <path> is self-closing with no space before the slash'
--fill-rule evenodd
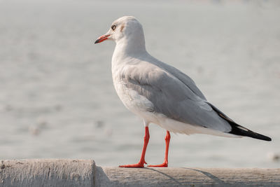
<path id="1" fill-rule="evenodd" d="M 144 125 L 113 88 L 115 43 L 94 45 L 123 15 L 151 55 L 273 139 L 172 134 L 170 167 L 280 167 L 279 1 L 0 1 L 0 159 L 138 162 Z M 146 161 L 160 164 L 165 130 L 150 133 Z"/>

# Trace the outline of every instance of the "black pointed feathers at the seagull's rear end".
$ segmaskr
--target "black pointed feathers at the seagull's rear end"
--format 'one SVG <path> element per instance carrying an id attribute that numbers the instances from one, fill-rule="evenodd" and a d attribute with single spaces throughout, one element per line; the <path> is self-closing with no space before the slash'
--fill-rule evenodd
<path id="1" fill-rule="evenodd" d="M 225 115 L 225 113 L 223 113 L 222 111 L 220 111 L 219 109 L 216 108 L 216 106 L 214 106 L 213 104 L 207 102 L 214 111 L 216 111 L 216 113 L 218 113 L 218 116 L 220 116 L 221 118 L 223 118 L 224 120 L 226 120 L 230 126 L 232 127 L 232 130 L 228 133 L 230 134 L 235 134 L 235 135 L 240 135 L 240 136 L 244 136 L 244 137 L 252 137 L 255 139 L 262 139 L 265 141 L 272 141 L 271 138 L 262 135 L 262 134 L 258 134 L 257 132 L 253 132 L 251 130 L 248 130 L 246 127 L 243 127 L 241 125 L 238 125 L 237 123 L 235 123 L 232 119 L 230 119 L 228 116 Z"/>

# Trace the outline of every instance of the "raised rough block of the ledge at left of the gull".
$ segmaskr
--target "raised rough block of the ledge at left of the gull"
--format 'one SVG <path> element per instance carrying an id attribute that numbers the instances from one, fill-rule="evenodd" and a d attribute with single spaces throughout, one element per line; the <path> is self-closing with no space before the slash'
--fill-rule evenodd
<path id="1" fill-rule="evenodd" d="M 94 186 L 93 160 L 0 160 L 0 186 Z"/>

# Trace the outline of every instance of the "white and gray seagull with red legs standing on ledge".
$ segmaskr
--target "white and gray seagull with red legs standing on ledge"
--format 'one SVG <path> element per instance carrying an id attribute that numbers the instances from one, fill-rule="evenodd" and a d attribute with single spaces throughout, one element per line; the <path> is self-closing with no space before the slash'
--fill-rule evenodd
<path id="1" fill-rule="evenodd" d="M 160 125 L 167 134 L 164 162 L 148 167 L 168 167 L 170 132 L 272 140 L 235 123 L 207 101 L 189 76 L 151 56 L 146 51 L 143 27 L 133 16 L 118 18 L 95 43 L 105 40 L 116 42 L 111 70 L 118 97 L 127 109 L 144 120 L 145 128 L 139 162 L 119 167 L 144 167 L 147 164 L 145 153 L 150 123 Z"/>

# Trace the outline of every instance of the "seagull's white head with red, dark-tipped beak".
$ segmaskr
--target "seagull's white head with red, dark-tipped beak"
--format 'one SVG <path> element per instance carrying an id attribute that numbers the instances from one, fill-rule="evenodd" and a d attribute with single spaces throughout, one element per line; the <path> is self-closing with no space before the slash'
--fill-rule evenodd
<path id="1" fill-rule="evenodd" d="M 123 46 L 127 50 L 146 50 L 142 25 L 133 16 L 118 18 L 112 23 L 109 31 L 94 43 L 101 43 L 107 39 L 116 41 L 117 46 Z"/>

